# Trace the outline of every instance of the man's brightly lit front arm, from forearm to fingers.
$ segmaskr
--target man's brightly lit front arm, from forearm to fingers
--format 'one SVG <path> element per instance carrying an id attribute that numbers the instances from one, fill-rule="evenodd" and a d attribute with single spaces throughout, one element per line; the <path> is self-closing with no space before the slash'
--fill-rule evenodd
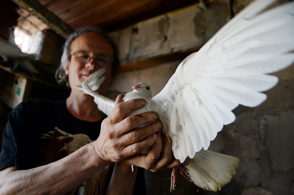
<path id="1" fill-rule="evenodd" d="M 134 131 L 132 129 L 157 119 L 151 112 L 127 117 L 143 108 L 144 100 L 121 102 L 118 98 L 115 109 L 101 125 L 98 139 L 56 162 L 30 170 L 6 169 L 0 174 L 0 194 L 64 194 L 92 177 L 110 162 L 119 162 L 152 146 L 155 134 L 161 129 L 156 123 Z"/>

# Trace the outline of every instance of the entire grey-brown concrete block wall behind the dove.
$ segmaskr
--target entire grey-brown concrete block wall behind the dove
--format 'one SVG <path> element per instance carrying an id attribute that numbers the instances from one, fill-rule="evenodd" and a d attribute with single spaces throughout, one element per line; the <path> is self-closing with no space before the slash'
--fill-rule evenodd
<path id="1" fill-rule="evenodd" d="M 209 1 L 207 11 L 195 4 L 112 32 L 122 61 L 182 51 L 203 45 L 250 1 Z M 132 91 L 132 85 L 149 83 L 153 96 L 175 72 L 176 61 L 151 68 L 120 73 L 112 82 L 110 97 Z M 239 106 L 236 121 L 223 128 L 210 150 L 240 159 L 232 182 L 221 191 L 208 192 L 179 178 L 172 194 L 294 194 L 294 66 L 274 73 L 277 86 L 267 91 L 267 100 L 256 108 Z M 171 169 L 146 171 L 147 194 L 171 194 Z"/>

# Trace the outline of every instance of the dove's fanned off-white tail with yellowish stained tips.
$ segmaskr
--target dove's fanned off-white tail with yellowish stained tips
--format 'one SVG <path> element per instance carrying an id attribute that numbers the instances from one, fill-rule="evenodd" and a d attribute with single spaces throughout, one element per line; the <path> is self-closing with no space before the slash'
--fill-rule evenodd
<path id="1" fill-rule="evenodd" d="M 202 149 L 186 167 L 196 186 L 217 191 L 231 181 L 238 164 L 236 157 Z"/>

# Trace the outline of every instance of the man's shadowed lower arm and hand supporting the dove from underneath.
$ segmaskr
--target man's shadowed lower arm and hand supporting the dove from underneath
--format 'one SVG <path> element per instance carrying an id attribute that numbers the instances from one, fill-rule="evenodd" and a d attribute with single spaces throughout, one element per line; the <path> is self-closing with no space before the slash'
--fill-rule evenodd
<path id="1" fill-rule="evenodd" d="M 162 137 L 161 132 L 157 132 L 157 140 L 151 146 L 148 154 L 136 154 L 115 164 L 106 195 L 132 195 L 138 167 L 157 172 L 180 164 L 187 166 L 188 163 L 189 158 L 184 163 L 175 159 L 172 155 L 172 144 L 164 135 Z M 134 165 L 133 172 L 131 165 Z"/>

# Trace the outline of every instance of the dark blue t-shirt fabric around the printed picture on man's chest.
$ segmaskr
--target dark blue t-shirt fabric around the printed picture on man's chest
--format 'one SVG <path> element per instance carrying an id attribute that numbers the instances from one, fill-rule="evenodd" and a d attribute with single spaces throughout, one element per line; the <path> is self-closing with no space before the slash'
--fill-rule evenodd
<path id="1" fill-rule="evenodd" d="M 44 133 L 58 127 L 71 134 L 83 133 L 96 140 L 102 120 L 82 121 L 66 108 L 66 100 L 31 100 L 20 103 L 8 115 L 0 153 L 0 170 L 16 166 L 16 170 L 41 165 L 41 142 Z"/>

